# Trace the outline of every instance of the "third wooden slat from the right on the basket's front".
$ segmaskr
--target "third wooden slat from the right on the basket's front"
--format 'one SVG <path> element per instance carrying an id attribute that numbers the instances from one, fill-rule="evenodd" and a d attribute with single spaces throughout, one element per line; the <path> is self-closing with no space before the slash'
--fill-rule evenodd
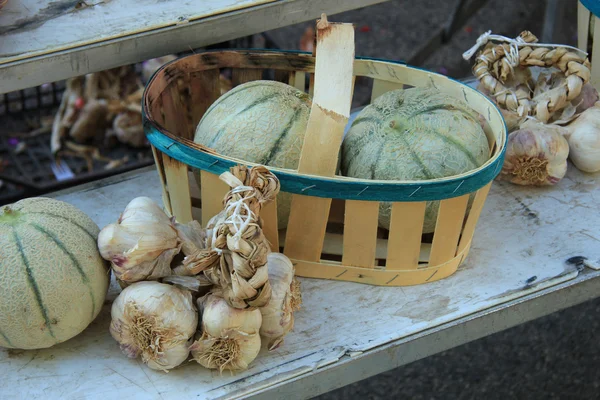
<path id="1" fill-rule="evenodd" d="M 417 269 L 426 202 L 392 203 L 386 270 Z"/>

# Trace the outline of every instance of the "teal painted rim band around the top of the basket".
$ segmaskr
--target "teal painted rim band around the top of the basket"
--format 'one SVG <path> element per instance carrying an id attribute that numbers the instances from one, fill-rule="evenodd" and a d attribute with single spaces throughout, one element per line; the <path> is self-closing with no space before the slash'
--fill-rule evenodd
<path id="1" fill-rule="evenodd" d="M 211 50 L 204 53 L 219 53 L 223 50 Z M 226 51 L 236 51 L 227 49 Z M 280 51 L 280 50 L 258 50 L 258 49 L 244 49 L 239 51 L 250 51 L 250 52 L 274 52 L 274 53 L 293 53 L 293 54 L 307 54 L 307 52 L 300 51 Z M 200 54 L 200 53 L 196 53 Z M 371 60 L 371 61 L 383 61 L 394 64 L 405 65 L 407 68 L 419 69 L 426 71 L 429 74 L 442 76 L 445 79 L 453 81 L 455 84 L 464 86 L 469 90 L 473 88 L 465 85 L 464 83 L 447 76 L 437 74 L 418 67 L 408 66 L 404 62 L 400 61 L 389 61 L 384 59 L 377 59 L 372 57 L 356 57 L 360 60 Z M 157 70 L 156 75 L 160 70 L 165 68 L 171 63 L 175 63 L 177 60 L 173 60 L 163 65 Z M 152 82 L 153 77 L 148 81 Z M 176 159 L 190 167 L 200 169 L 212 174 L 220 175 L 230 170 L 230 168 L 239 165 L 240 163 L 246 164 L 247 166 L 254 166 L 257 164 L 249 162 L 237 162 L 232 161 L 228 158 L 224 158 L 214 153 L 209 153 L 200 149 L 192 148 L 186 144 L 171 138 L 170 136 L 163 133 L 153 122 L 147 117 L 146 109 L 144 107 L 144 101 L 147 95 L 147 89 L 149 84 L 144 89 L 144 95 L 142 98 L 142 115 L 144 132 L 148 141 L 160 152 L 165 153 L 171 158 Z M 475 90 L 476 91 L 476 90 Z M 483 101 L 487 101 L 495 110 L 500 114 L 498 107 L 489 99 L 487 99 L 482 93 L 476 91 L 482 98 Z M 504 119 L 502 118 L 504 123 Z M 504 132 L 506 134 L 507 128 L 504 123 Z M 295 171 L 288 171 L 278 168 L 269 168 L 275 176 L 279 179 L 281 184 L 281 190 L 284 192 L 290 192 L 295 194 L 301 194 L 306 196 L 324 197 L 332 199 L 343 199 L 343 200 L 369 200 L 369 201 L 432 201 L 432 200 L 444 200 L 452 197 L 458 197 L 465 194 L 473 193 L 488 183 L 490 183 L 502 169 L 504 163 L 504 155 L 506 152 L 506 142 L 503 141 L 502 148 L 496 154 L 496 158 L 493 162 L 489 163 L 484 168 L 481 168 L 471 174 L 459 176 L 459 177 L 447 177 L 441 178 L 434 181 L 370 181 L 365 179 L 356 179 L 348 177 L 321 177 L 315 175 L 299 174 Z"/>

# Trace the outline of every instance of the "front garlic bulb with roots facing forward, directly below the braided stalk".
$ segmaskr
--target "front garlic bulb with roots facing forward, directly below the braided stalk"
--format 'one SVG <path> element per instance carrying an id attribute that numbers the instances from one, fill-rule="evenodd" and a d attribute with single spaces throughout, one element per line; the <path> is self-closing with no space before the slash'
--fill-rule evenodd
<path id="1" fill-rule="evenodd" d="M 247 369 L 260 351 L 260 311 L 230 307 L 214 294 L 198 299 L 198 308 L 202 309 L 202 336 L 190 347 L 194 360 L 220 372 Z"/>

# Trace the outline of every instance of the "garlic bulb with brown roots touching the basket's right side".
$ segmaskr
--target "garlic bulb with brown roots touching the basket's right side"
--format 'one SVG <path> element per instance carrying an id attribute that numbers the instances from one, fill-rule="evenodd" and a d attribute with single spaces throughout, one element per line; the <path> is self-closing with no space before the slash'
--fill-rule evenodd
<path id="1" fill-rule="evenodd" d="M 565 129 L 526 121 L 508 136 L 499 179 L 518 185 L 554 185 L 567 172 Z"/>

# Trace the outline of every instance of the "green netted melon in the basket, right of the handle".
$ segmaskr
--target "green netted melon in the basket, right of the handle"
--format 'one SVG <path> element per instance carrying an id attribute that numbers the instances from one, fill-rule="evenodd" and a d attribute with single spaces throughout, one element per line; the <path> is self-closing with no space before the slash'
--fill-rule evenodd
<path id="1" fill-rule="evenodd" d="M 365 107 L 342 143 L 342 174 L 374 180 L 430 180 L 483 165 L 489 144 L 481 116 L 434 88 L 387 92 Z M 423 233 L 435 228 L 438 201 L 427 203 Z M 389 229 L 390 203 L 379 225 Z"/>

